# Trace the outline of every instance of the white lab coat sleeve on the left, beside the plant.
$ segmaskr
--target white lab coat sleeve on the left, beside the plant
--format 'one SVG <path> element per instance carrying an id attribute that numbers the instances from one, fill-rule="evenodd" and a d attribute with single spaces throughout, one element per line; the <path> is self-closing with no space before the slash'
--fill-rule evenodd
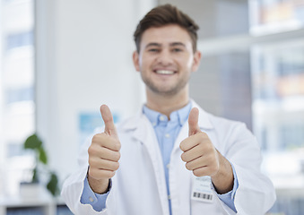
<path id="1" fill-rule="evenodd" d="M 102 214 L 109 215 L 106 208 L 100 212 L 95 211 L 91 204 L 83 204 L 81 196 L 83 194 L 83 182 L 88 171 L 88 148 L 91 144 L 91 137 L 84 143 L 78 159 L 80 168 L 69 176 L 63 185 L 61 195 L 65 200 L 66 205 L 74 214 Z"/>

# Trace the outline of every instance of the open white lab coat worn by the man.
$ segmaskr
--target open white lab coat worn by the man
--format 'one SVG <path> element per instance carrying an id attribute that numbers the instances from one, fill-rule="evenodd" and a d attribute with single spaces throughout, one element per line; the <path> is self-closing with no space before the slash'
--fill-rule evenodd
<path id="1" fill-rule="evenodd" d="M 193 107 L 198 107 L 192 101 Z M 274 186 L 260 172 L 261 154 L 256 138 L 242 123 L 232 122 L 204 112 L 198 107 L 199 126 L 209 135 L 215 148 L 233 164 L 239 180 L 235 194 L 238 214 L 263 215 L 275 201 Z M 102 132 L 102 131 L 100 131 Z M 161 151 L 153 127 L 143 113 L 117 126 L 121 142 L 120 167 L 112 178 L 106 209 L 97 212 L 80 202 L 87 174 L 91 140 L 80 158 L 81 169 L 65 180 L 62 195 L 75 214 L 169 215 L 166 181 Z M 180 159 L 179 143 L 187 138 L 187 122 L 173 147 L 169 165 L 169 190 L 173 215 L 235 214 L 213 193 L 213 202 L 190 198 L 193 178 Z M 213 191 L 214 192 L 214 191 Z"/>

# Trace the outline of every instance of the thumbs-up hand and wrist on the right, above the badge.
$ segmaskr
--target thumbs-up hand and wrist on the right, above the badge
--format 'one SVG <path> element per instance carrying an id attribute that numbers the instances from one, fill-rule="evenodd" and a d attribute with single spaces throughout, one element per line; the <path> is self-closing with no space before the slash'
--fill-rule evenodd
<path id="1" fill-rule="evenodd" d="M 198 126 L 198 109 L 192 108 L 188 117 L 189 136 L 180 143 L 184 152 L 181 159 L 195 176 L 211 176 L 218 193 L 233 188 L 233 172 L 230 162 L 215 149 L 208 135 Z"/>

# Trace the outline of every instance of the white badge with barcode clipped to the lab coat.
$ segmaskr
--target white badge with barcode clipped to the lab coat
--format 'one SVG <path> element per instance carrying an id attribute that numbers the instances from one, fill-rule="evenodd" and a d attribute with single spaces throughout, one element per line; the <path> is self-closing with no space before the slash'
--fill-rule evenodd
<path id="1" fill-rule="evenodd" d="M 210 176 L 194 177 L 191 199 L 200 202 L 213 202 L 213 190 Z"/>

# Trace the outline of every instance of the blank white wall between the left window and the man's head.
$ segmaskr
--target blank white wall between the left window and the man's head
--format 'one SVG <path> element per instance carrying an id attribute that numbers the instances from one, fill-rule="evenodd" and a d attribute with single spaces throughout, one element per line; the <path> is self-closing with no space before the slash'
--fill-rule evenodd
<path id="1" fill-rule="evenodd" d="M 108 104 L 121 118 L 143 103 L 133 32 L 153 0 L 37 0 L 37 131 L 61 178 L 77 168 L 79 114 Z"/>

